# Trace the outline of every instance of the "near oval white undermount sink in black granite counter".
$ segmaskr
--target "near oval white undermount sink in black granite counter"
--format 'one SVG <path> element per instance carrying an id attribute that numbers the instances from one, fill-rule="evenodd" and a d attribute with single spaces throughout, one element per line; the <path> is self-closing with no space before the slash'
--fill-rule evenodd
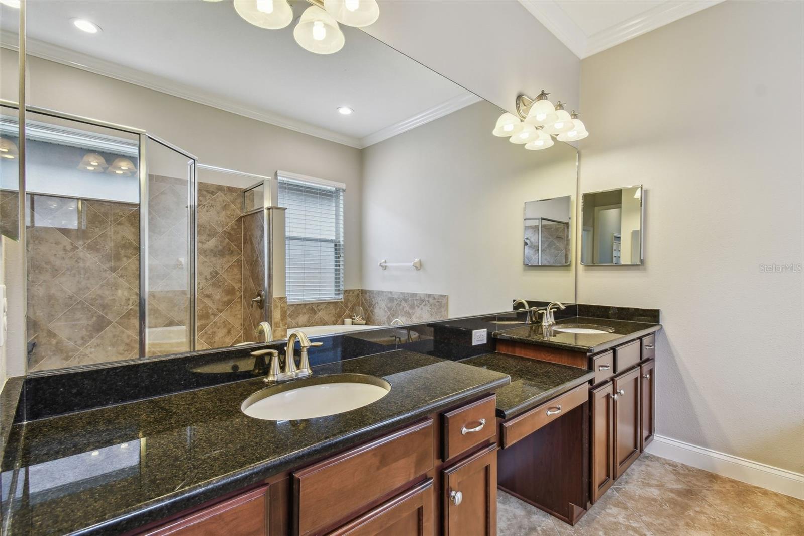
<path id="1" fill-rule="evenodd" d="M 376 402 L 391 391 L 391 384 L 367 374 L 332 374 L 290 381 L 257 391 L 240 410 L 267 421 L 326 417 Z"/>

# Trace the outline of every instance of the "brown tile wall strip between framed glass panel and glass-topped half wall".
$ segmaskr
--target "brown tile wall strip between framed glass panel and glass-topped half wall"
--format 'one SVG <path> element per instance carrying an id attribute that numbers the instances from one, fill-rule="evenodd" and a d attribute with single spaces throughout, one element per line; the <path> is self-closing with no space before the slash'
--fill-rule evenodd
<path id="1" fill-rule="evenodd" d="M 243 190 L 199 183 L 196 349 L 243 342 Z"/>

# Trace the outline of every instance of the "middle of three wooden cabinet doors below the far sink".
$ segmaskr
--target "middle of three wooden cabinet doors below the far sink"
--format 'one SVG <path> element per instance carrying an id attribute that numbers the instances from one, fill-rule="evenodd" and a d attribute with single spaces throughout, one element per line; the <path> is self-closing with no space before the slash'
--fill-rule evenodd
<path id="1" fill-rule="evenodd" d="M 641 397 L 640 369 L 615 376 L 614 387 L 614 478 L 617 479 L 639 456 Z"/>

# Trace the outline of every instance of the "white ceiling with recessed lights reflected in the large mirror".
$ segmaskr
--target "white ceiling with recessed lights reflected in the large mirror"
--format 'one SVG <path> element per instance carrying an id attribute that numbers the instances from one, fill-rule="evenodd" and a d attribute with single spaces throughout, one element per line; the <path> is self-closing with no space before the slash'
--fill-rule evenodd
<path id="1" fill-rule="evenodd" d="M 103 31 L 79 31 L 74 17 Z M 293 26 L 254 27 L 231 2 L 40 0 L 27 4 L 27 50 L 356 147 L 480 100 L 356 28 L 342 26 L 346 45 L 320 56 Z"/>

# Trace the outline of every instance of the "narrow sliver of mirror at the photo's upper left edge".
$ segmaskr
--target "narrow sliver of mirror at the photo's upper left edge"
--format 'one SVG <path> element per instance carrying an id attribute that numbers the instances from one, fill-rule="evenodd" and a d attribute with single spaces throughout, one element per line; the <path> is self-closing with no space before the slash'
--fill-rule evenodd
<path id="1" fill-rule="evenodd" d="M 19 240 L 19 20 L 18 9 L 0 2 L 0 234 Z"/>

